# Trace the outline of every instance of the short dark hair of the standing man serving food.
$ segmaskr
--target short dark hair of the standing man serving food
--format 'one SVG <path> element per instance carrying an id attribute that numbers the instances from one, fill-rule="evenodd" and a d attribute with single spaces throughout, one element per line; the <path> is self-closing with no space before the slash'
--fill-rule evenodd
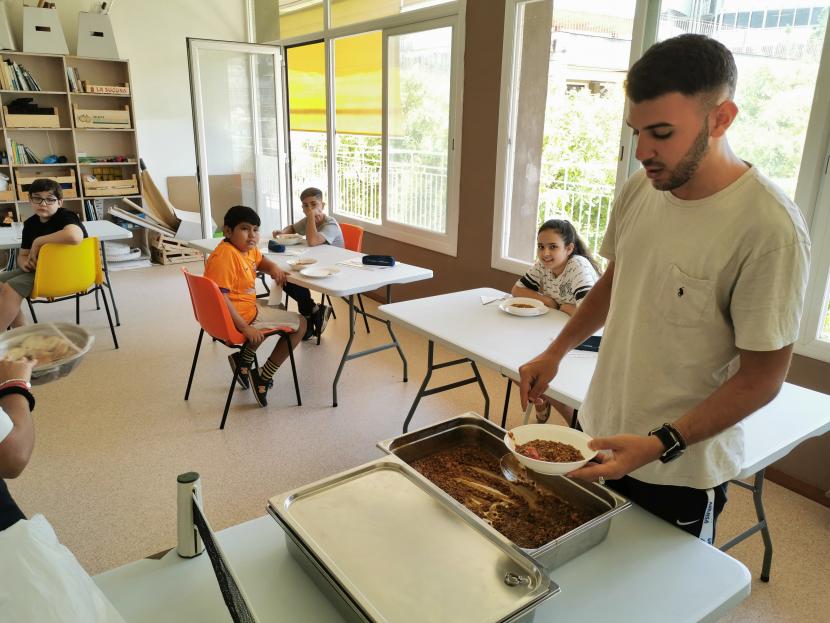
<path id="1" fill-rule="evenodd" d="M 735 97 L 738 68 L 725 45 L 705 35 L 680 35 L 655 43 L 628 70 L 625 94 L 634 103 L 668 93 L 692 97 L 726 90 Z"/>

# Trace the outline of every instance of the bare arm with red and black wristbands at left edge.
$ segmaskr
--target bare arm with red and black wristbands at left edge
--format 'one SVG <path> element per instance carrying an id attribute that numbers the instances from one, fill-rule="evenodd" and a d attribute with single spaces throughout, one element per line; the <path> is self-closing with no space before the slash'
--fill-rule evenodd
<path id="1" fill-rule="evenodd" d="M 33 361 L 0 360 L 0 382 L 11 379 L 29 381 Z M 35 427 L 29 402 L 19 394 L 0 398 L 0 407 L 12 420 L 14 428 L 0 441 L 0 478 L 17 478 L 29 462 L 35 446 Z"/>

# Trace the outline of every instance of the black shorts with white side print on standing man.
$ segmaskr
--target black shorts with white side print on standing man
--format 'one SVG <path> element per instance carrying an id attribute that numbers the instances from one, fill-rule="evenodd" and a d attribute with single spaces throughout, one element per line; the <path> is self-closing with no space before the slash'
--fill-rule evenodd
<path id="1" fill-rule="evenodd" d="M 683 460 L 683 457 L 678 459 Z M 715 543 L 715 525 L 726 504 L 725 482 L 712 489 L 653 485 L 631 476 L 605 484 L 635 504 L 689 534 Z"/>

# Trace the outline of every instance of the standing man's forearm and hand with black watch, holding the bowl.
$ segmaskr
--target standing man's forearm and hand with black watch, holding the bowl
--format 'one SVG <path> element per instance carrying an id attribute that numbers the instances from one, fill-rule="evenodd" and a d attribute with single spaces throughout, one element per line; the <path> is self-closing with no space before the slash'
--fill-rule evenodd
<path id="1" fill-rule="evenodd" d="M 792 344 L 773 351 L 739 350 L 741 367 L 735 376 L 669 424 L 677 429 L 687 445 L 713 437 L 737 424 L 775 398 L 787 377 L 792 351 Z M 618 479 L 656 461 L 665 451 L 662 442 L 657 437 L 649 437 L 647 432 L 596 438 L 589 446 L 594 450 L 611 450 L 613 454 L 600 453 L 597 456 L 601 464 L 589 464 L 568 476 L 585 480 Z M 683 457 L 677 460 L 682 461 Z"/>

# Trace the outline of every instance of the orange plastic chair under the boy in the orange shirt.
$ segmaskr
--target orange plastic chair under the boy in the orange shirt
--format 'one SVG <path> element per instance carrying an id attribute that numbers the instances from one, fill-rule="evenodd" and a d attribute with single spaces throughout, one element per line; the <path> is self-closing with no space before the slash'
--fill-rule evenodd
<path id="1" fill-rule="evenodd" d="M 196 322 L 199 323 L 199 340 L 196 342 L 196 352 L 193 354 L 193 365 L 190 367 L 190 378 L 187 380 L 187 390 L 184 393 L 184 399 L 190 398 L 190 388 L 193 385 L 193 375 L 196 372 L 196 362 L 199 359 L 199 349 L 202 346 L 202 337 L 205 332 L 214 339 L 222 342 L 228 348 L 235 348 L 241 350 L 245 346 L 245 336 L 240 333 L 233 324 L 231 313 L 228 311 L 228 306 L 225 304 L 225 297 L 219 291 L 219 286 L 207 277 L 201 275 L 194 275 L 182 269 L 184 278 L 187 281 L 187 289 L 190 291 L 190 302 L 193 305 L 193 315 L 196 317 Z M 290 327 L 276 327 L 263 331 L 266 336 L 280 335 L 288 338 L 288 335 L 294 333 Z M 288 357 L 291 360 L 291 374 L 294 376 L 294 391 L 297 393 L 297 405 L 302 405 L 300 398 L 300 384 L 297 381 L 297 368 L 294 365 L 294 349 L 291 346 L 291 340 L 286 339 L 288 344 Z M 228 409 L 231 406 L 231 397 L 233 396 L 233 388 L 239 379 L 239 365 L 233 371 L 233 378 L 231 379 L 231 386 L 228 390 L 228 399 L 225 401 L 225 410 L 222 412 L 222 422 L 219 424 L 220 429 L 225 428 L 225 420 L 228 419 Z"/>

